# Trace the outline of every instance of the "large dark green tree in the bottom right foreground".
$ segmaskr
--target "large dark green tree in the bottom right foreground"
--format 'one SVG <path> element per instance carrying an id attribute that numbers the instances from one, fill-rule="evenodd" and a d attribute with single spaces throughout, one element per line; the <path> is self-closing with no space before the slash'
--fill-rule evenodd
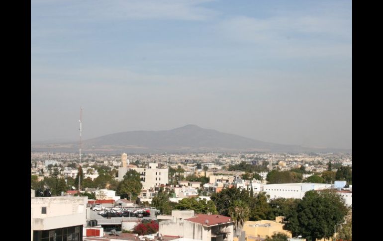
<path id="1" fill-rule="evenodd" d="M 286 216 L 286 229 L 293 236 L 302 235 L 307 240 L 329 238 L 334 235 L 334 225 L 343 221 L 347 208 L 343 198 L 331 190 L 307 191 L 296 209 Z"/>

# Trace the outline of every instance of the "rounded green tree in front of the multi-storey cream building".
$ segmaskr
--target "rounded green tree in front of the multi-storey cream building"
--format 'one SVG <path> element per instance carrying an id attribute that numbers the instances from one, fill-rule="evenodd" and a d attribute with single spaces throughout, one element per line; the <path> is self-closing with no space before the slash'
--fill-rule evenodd
<path id="1" fill-rule="evenodd" d="M 140 173 L 135 170 L 129 170 L 124 175 L 124 179 L 119 183 L 117 192 L 122 196 L 130 197 L 136 200 L 142 189 Z"/>

